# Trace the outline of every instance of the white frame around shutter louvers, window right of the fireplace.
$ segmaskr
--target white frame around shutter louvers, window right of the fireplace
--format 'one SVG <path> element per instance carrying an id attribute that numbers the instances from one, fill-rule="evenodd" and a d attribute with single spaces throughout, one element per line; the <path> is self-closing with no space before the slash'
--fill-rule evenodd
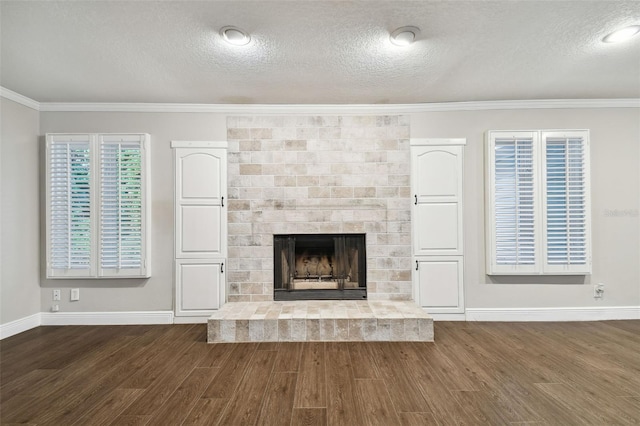
<path id="1" fill-rule="evenodd" d="M 585 233 L 586 257 L 584 265 L 549 265 L 547 263 L 546 213 L 546 150 L 549 137 L 576 137 L 584 139 L 585 175 Z M 485 138 L 485 242 L 487 275 L 589 275 L 591 274 L 591 194 L 589 130 L 490 130 Z M 495 141 L 497 138 L 531 138 L 533 140 L 533 194 L 535 262 L 532 265 L 499 265 L 496 259 L 495 221 Z"/>

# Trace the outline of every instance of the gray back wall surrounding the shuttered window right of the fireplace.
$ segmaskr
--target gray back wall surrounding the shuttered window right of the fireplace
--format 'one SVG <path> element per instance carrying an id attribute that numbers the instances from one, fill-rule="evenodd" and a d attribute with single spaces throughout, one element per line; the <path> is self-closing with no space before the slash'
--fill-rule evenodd
<path id="1" fill-rule="evenodd" d="M 593 274 L 488 277 L 484 240 L 484 133 L 590 129 Z M 632 108 L 433 112 L 411 117 L 412 137 L 467 138 L 465 299 L 467 308 L 640 305 L 640 111 Z M 618 210 L 620 216 L 611 215 Z M 604 283 L 602 300 L 591 283 Z M 587 285 L 584 285 L 587 284 Z"/>

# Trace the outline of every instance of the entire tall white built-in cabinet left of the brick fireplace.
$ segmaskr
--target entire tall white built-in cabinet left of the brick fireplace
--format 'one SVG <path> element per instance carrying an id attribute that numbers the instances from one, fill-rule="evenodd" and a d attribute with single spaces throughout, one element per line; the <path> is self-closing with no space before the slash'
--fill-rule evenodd
<path id="1" fill-rule="evenodd" d="M 209 316 L 225 302 L 227 143 L 177 142 L 175 315 Z"/>

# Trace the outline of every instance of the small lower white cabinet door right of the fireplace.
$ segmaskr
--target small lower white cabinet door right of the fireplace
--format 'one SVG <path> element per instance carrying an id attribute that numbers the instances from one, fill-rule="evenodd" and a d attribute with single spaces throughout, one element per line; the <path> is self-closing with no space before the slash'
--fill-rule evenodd
<path id="1" fill-rule="evenodd" d="M 418 301 L 429 313 L 462 313 L 462 256 L 428 256 L 416 261 Z"/>

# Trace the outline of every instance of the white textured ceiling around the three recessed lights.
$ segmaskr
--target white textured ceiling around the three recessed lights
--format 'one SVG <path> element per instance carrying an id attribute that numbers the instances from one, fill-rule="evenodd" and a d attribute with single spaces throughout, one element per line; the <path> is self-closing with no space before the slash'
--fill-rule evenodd
<path id="1" fill-rule="evenodd" d="M 0 85 L 40 102 L 640 97 L 640 2 L 6 1 Z M 218 30 L 249 31 L 243 47 Z M 422 29 L 393 46 L 397 27 Z"/>

